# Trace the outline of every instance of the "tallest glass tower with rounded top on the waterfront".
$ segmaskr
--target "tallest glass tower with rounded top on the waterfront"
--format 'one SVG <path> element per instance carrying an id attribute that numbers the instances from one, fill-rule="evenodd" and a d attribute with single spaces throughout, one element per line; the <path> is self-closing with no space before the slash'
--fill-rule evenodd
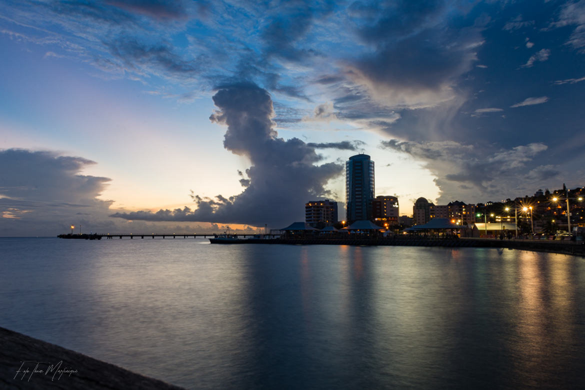
<path id="1" fill-rule="evenodd" d="M 374 161 L 367 154 L 356 154 L 345 164 L 347 222 L 372 219 L 374 199 Z"/>

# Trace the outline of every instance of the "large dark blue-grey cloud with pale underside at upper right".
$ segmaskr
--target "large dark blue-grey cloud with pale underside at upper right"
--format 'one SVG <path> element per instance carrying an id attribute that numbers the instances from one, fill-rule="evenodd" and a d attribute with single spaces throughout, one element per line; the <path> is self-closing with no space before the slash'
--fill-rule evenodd
<path id="1" fill-rule="evenodd" d="M 449 28 L 453 10 L 443 1 L 350 8 L 363 23 L 360 37 L 375 50 L 347 61 L 348 80 L 390 108 L 428 108 L 455 98 L 457 79 L 477 60 L 481 27 Z"/>

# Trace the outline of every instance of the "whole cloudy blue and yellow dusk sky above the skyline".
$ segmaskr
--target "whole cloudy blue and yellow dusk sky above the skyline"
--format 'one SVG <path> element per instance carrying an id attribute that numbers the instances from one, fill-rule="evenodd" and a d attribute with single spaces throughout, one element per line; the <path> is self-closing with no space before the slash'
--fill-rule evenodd
<path id="1" fill-rule="evenodd" d="M 2 0 L 0 53 L 0 236 L 278 229 L 357 153 L 401 215 L 585 182 L 585 0 Z"/>

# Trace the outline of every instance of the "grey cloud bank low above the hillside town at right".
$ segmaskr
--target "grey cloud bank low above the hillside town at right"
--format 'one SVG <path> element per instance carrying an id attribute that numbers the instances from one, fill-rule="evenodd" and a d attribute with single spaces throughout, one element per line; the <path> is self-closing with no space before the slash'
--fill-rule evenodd
<path id="1" fill-rule="evenodd" d="M 535 157 L 548 147 L 543 143 L 493 149 L 456 141 L 383 141 L 385 149 L 406 153 L 421 161 L 435 175 L 440 201 L 467 198 L 467 202 L 499 199 L 525 191 L 558 175 L 553 165 L 537 165 Z M 534 168 L 533 168 L 534 167 Z M 479 197 L 478 194 L 481 194 Z"/>

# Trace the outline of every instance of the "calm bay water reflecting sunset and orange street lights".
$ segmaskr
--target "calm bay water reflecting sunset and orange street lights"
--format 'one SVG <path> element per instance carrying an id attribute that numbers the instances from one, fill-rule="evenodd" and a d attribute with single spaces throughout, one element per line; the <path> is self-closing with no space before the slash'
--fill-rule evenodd
<path id="1" fill-rule="evenodd" d="M 585 385 L 585 260 L 0 239 L 0 326 L 187 388 Z"/>

